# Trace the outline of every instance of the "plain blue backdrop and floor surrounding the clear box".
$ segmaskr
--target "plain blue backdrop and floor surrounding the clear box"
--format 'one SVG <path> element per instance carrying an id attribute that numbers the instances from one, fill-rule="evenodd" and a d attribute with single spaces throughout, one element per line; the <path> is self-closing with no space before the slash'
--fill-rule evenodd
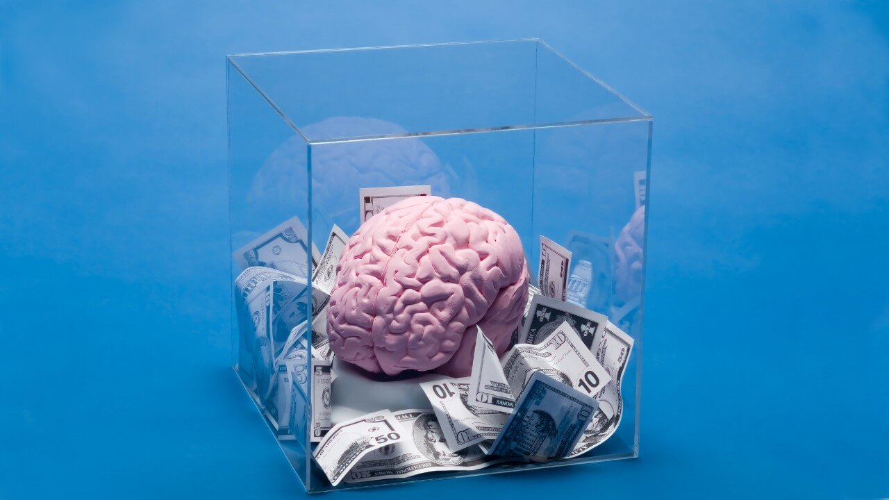
<path id="1" fill-rule="evenodd" d="M 879 2 L 0 4 L 0 497 L 301 496 L 227 367 L 230 52 L 539 36 L 655 117 L 638 460 L 338 497 L 889 496 Z"/>

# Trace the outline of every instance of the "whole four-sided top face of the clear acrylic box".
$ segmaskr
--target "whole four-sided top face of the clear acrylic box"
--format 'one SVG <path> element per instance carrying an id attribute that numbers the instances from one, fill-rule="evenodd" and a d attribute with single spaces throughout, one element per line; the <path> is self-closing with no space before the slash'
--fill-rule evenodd
<path id="1" fill-rule="evenodd" d="M 538 39 L 228 56 L 307 142 L 650 120 Z"/>

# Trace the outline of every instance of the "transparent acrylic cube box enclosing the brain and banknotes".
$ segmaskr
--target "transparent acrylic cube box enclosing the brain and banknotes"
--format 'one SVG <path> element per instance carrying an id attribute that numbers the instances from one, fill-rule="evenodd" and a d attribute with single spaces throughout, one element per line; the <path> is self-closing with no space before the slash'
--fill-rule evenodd
<path id="1" fill-rule="evenodd" d="M 638 456 L 648 113 L 537 39 L 236 54 L 227 74 L 232 358 L 309 492 Z M 333 224 L 357 230 L 360 188 L 422 184 L 501 214 L 522 240 L 533 283 L 540 236 L 567 247 L 573 302 L 633 337 L 622 408 L 613 410 L 620 426 L 600 446 L 571 459 L 335 488 L 313 463 L 311 408 L 321 396 L 296 379 L 312 373 L 315 332 L 284 345 L 320 300 L 308 277 Z M 244 252 L 267 237 L 278 239 Z M 291 253 L 284 263 L 282 246 Z M 247 266 L 286 270 L 302 285 L 276 286 L 260 273 L 235 286 Z M 254 290 L 263 286 L 264 295 Z M 282 349 L 303 350 L 302 375 L 280 372 Z M 274 371 L 274 386 L 261 381 Z"/>

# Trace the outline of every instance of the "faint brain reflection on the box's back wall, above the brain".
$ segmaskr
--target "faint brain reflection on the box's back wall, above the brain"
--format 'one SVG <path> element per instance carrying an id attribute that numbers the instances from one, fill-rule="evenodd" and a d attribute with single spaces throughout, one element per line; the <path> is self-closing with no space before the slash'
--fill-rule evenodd
<path id="1" fill-rule="evenodd" d="M 332 117 L 300 127 L 307 137 L 360 137 L 407 133 L 376 118 Z M 348 234 L 358 229 L 360 188 L 430 184 L 447 198 L 454 175 L 419 139 L 319 144 L 312 147 L 312 208 L 319 234 L 336 223 Z M 247 203 L 258 214 L 305 213 L 308 209 L 306 144 L 294 135 L 278 146 L 253 178 Z M 313 229 L 313 232 L 316 232 Z"/>

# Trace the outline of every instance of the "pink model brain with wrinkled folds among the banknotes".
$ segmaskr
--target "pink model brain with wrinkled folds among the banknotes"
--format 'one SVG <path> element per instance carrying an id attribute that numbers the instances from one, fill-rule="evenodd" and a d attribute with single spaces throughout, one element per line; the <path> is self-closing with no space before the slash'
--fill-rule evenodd
<path id="1" fill-rule="evenodd" d="M 465 376 L 476 326 L 506 351 L 527 287 L 522 242 L 500 215 L 461 198 L 407 198 L 349 239 L 327 335 L 337 357 L 373 373 Z"/>

